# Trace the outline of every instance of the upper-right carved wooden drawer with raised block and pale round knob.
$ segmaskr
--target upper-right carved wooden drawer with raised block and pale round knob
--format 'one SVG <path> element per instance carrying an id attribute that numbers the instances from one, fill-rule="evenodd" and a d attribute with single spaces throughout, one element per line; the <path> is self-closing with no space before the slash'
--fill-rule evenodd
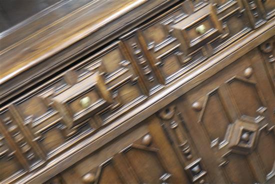
<path id="1" fill-rule="evenodd" d="M 185 1 L 141 26 L 140 42 L 167 84 L 250 32 L 247 11 L 242 1 Z M 199 34 L 202 25 L 205 33 Z"/>

